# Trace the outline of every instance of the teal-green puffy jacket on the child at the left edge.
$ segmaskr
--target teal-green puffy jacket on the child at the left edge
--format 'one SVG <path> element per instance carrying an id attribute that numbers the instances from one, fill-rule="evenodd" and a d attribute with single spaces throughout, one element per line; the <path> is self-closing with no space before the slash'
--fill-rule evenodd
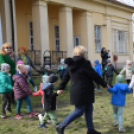
<path id="1" fill-rule="evenodd" d="M 12 92 L 12 88 L 10 76 L 5 72 L 0 72 L 0 93 Z"/>

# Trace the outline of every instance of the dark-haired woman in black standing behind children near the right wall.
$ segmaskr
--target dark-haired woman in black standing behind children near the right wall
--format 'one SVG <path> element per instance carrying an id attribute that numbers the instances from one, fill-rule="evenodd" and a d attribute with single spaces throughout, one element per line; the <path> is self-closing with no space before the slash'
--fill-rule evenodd
<path id="1" fill-rule="evenodd" d="M 106 50 L 105 47 L 101 49 L 101 58 L 102 58 L 102 69 L 104 70 L 105 66 L 107 65 L 107 60 L 110 58 L 108 55 L 109 51 Z"/>

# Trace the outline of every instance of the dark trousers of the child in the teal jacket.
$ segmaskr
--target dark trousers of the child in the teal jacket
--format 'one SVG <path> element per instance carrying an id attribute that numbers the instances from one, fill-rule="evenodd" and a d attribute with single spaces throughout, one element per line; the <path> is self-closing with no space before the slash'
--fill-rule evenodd
<path id="1" fill-rule="evenodd" d="M 5 108 L 11 109 L 11 103 L 12 103 L 12 92 L 9 93 L 1 93 L 1 114 L 6 114 Z"/>

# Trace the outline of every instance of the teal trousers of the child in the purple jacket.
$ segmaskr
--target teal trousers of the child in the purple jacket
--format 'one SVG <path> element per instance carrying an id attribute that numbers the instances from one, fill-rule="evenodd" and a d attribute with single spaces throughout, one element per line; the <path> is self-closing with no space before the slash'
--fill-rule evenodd
<path id="1" fill-rule="evenodd" d="M 18 99 L 18 100 L 17 100 L 17 108 L 16 108 L 17 113 L 20 113 L 20 109 L 21 109 L 23 100 L 26 101 L 28 112 L 29 112 L 29 113 L 32 112 L 31 99 L 30 99 L 29 96 L 27 96 L 27 97 L 24 97 L 24 98 L 21 98 L 21 99 Z"/>

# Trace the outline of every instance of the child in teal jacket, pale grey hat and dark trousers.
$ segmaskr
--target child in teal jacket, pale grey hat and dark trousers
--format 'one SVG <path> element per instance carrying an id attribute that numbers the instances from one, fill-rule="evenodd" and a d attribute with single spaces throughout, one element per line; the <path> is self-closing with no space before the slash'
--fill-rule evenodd
<path id="1" fill-rule="evenodd" d="M 12 112 L 11 102 L 12 102 L 12 83 L 9 76 L 10 65 L 3 63 L 1 64 L 0 72 L 0 95 L 1 95 L 1 118 L 6 118 L 6 111 Z"/>

